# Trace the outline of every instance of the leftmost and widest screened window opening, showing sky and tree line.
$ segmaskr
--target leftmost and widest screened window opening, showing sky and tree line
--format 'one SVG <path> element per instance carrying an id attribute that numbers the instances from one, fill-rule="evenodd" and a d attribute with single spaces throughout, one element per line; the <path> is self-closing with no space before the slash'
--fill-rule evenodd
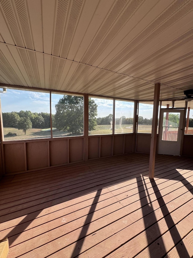
<path id="1" fill-rule="evenodd" d="M 5 141 L 51 137 L 49 93 L 7 89 L 1 106 Z"/>

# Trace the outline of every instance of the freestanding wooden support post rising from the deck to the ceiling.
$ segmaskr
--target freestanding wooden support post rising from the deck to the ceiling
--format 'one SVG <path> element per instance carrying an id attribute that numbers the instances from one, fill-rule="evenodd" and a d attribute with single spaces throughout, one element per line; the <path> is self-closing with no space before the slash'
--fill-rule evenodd
<path id="1" fill-rule="evenodd" d="M 152 129 L 151 129 L 150 163 L 149 163 L 149 178 L 152 178 L 152 179 L 154 177 L 155 156 L 156 156 L 159 98 L 160 98 L 160 83 L 156 83 L 154 87 L 153 119 L 152 119 Z"/>

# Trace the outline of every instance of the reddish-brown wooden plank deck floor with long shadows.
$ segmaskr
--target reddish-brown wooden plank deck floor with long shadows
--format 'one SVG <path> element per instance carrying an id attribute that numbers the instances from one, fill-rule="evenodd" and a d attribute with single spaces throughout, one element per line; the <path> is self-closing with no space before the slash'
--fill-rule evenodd
<path id="1" fill-rule="evenodd" d="M 193 161 L 112 158 L 10 175 L 0 183 L 0 238 L 13 257 L 192 257 Z"/>

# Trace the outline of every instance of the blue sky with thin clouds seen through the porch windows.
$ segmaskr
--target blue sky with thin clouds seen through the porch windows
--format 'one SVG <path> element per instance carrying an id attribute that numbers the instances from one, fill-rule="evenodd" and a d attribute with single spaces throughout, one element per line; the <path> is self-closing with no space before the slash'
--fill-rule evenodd
<path id="1" fill-rule="evenodd" d="M 31 112 L 49 113 L 49 93 L 42 91 L 26 91 L 7 89 L 6 93 L 1 94 L 2 112 L 19 112 L 20 110 L 30 110 Z M 52 114 L 55 113 L 55 104 L 63 94 L 52 94 Z M 93 98 L 98 105 L 98 117 L 112 114 L 113 101 L 101 98 Z M 133 117 L 133 102 L 115 101 L 115 118 L 125 116 Z M 153 114 L 153 105 L 140 103 L 139 116 L 150 119 Z M 190 118 L 193 118 L 193 110 L 190 112 Z"/>

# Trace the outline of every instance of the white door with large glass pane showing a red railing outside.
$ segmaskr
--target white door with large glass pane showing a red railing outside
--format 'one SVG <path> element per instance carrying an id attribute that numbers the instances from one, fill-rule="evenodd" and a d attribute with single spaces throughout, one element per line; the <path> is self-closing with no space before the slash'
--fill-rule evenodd
<path id="1" fill-rule="evenodd" d="M 180 155 L 184 109 L 161 109 L 158 154 Z"/>

